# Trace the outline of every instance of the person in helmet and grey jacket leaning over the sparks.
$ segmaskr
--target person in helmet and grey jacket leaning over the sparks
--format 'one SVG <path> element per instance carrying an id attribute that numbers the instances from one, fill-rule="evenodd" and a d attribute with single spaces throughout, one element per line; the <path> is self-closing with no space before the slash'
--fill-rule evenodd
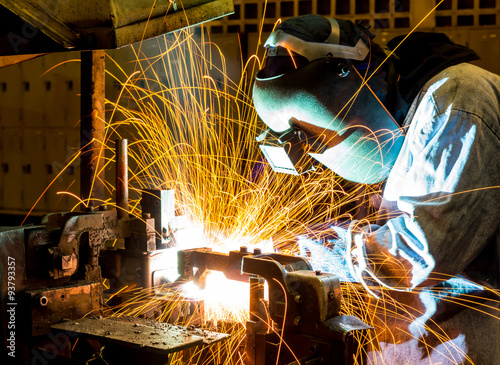
<path id="1" fill-rule="evenodd" d="M 275 28 L 253 89 L 277 141 L 262 151 L 277 171 L 382 184 L 376 224 L 336 241 L 351 277 L 405 308 L 385 308 L 368 363 L 497 364 L 500 77 L 444 34 L 373 38 L 318 15 Z"/>

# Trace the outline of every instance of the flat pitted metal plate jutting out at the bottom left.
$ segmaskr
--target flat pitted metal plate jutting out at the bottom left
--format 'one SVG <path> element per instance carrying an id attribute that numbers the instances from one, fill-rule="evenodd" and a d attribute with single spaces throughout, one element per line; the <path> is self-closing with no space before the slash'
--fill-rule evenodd
<path id="1" fill-rule="evenodd" d="M 104 346 L 109 364 L 167 364 L 169 355 L 196 346 L 211 345 L 229 335 L 181 327 L 136 317 L 93 317 L 52 326 L 52 332 L 87 338 Z"/>

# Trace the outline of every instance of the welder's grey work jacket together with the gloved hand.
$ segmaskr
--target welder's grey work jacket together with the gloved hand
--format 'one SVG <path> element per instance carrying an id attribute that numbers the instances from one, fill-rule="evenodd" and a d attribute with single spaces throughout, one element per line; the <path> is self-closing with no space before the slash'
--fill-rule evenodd
<path id="1" fill-rule="evenodd" d="M 366 362 L 498 364 L 500 77 L 445 68 L 403 128 L 378 225 L 352 229 L 354 276 L 385 299 Z"/>

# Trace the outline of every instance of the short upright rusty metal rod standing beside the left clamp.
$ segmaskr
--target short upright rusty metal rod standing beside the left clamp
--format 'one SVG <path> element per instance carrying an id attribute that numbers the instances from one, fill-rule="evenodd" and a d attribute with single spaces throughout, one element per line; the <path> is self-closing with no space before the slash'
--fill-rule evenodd
<path id="1" fill-rule="evenodd" d="M 118 218 L 129 216 L 128 208 L 128 140 L 116 140 L 116 209 Z"/>

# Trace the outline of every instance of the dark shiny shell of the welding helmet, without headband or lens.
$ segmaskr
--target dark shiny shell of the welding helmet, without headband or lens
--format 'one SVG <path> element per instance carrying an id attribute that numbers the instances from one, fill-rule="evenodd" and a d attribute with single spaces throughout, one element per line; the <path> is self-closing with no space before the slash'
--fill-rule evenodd
<path id="1" fill-rule="evenodd" d="M 383 106 L 385 73 L 373 75 L 368 87 L 365 70 L 349 59 L 304 62 L 298 55 L 297 60 L 293 68 L 287 61 L 285 68 L 274 67 L 278 72 L 266 65 L 257 73 L 253 101 L 260 118 L 276 133 L 307 136 L 308 146 L 300 150 L 347 180 L 385 180 L 403 144 L 399 126 Z"/>

